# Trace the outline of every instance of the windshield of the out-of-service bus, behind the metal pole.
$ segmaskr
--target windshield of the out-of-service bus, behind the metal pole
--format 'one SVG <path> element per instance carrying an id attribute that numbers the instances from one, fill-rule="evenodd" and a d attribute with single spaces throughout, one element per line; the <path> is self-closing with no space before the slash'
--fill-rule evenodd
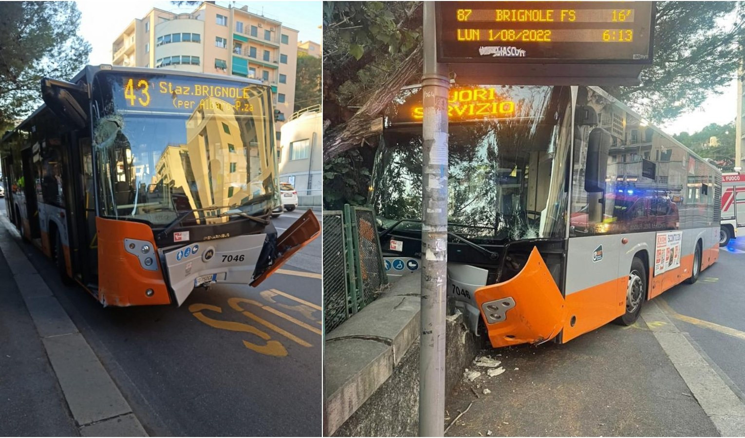
<path id="1" fill-rule="evenodd" d="M 456 95 L 451 91 L 448 230 L 479 244 L 564 237 L 569 88 L 487 89 L 481 96 L 499 101 L 491 108 L 504 113 L 479 121 L 458 120 L 482 104 L 471 107 L 467 99 L 463 103 L 462 92 L 458 97 L 457 90 Z M 401 108 L 410 111 L 406 104 Z M 373 205 L 385 228 L 401 219 L 421 218 L 421 125 L 393 124 L 384 134 L 373 177 Z M 405 229 L 418 231 L 421 224 L 402 222 L 394 230 Z"/>

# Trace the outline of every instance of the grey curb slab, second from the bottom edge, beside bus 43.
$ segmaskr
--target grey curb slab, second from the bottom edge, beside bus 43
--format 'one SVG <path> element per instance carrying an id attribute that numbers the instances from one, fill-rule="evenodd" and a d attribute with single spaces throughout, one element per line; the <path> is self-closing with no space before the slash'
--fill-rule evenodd
<path id="1" fill-rule="evenodd" d="M 79 425 L 131 412 L 83 335 L 65 334 L 42 341 L 72 416 Z"/>

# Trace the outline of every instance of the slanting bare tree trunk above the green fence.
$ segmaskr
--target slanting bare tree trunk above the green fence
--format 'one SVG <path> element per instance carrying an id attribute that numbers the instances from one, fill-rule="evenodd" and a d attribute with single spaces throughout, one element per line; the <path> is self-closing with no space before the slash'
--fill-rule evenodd
<path id="1" fill-rule="evenodd" d="M 323 161 L 328 162 L 345 150 L 357 147 L 367 137 L 377 134 L 378 131 L 371 127 L 373 120 L 381 116 L 383 109 L 399 94 L 402 86 L 421 74 L 422 46 L 419 45 L 348 121 L 330 127 L 323 133 Z"/>

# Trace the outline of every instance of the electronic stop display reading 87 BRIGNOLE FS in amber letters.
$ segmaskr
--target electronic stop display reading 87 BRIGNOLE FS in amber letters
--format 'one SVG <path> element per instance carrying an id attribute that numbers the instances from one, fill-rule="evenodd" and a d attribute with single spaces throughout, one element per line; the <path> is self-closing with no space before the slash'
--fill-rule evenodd
<path id="1" fill-rule="evenodd" d="M 650 63 L 652 19 L 652 1 L 438 1 L 438 60 Z"/>

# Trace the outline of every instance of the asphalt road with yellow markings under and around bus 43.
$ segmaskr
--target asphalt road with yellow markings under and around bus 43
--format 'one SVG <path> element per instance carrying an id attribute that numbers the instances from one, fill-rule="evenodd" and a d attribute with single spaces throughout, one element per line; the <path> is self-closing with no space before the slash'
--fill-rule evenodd
<path id="1" fill-rule="evenodd" d="M 299 215 L 273 221 L 282 232 Z M 259 288 L 200 288 L 179 308 L 102 308 L 25 253 L 151 436 L 302 437 L 321 434 L 320 247 Z"/>

